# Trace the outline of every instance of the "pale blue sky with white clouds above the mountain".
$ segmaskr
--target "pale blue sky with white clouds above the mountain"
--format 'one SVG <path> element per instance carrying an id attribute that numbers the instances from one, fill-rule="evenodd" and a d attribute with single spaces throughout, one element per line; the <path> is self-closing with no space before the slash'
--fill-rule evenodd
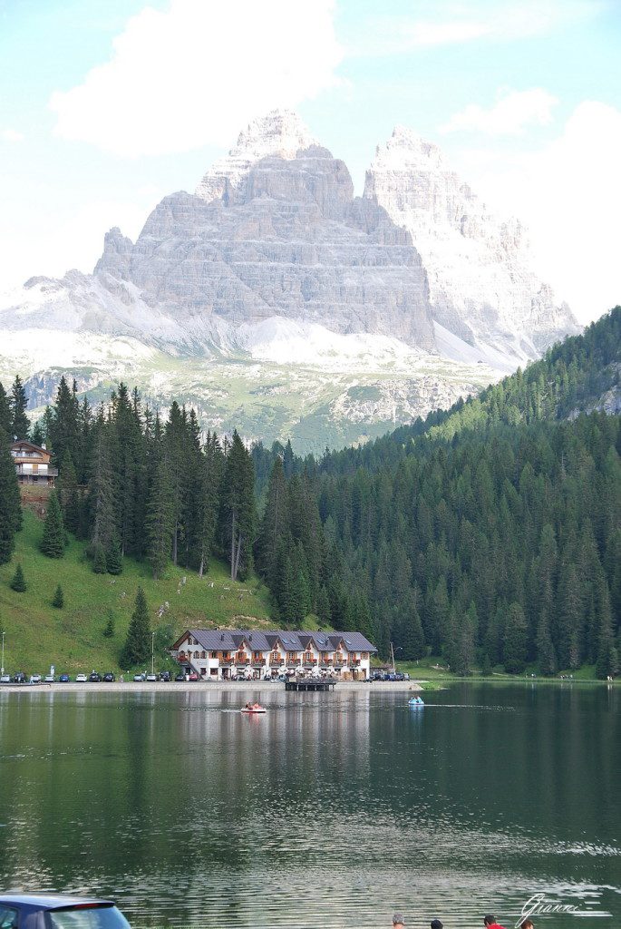
<path id="1" fill-rule="evenodd" d="M 0 0 L 0 290 L 92 270 L 255 116 L 362 191 L 404 124 L 582 322 L 621 302 L 621 0 Z"/>

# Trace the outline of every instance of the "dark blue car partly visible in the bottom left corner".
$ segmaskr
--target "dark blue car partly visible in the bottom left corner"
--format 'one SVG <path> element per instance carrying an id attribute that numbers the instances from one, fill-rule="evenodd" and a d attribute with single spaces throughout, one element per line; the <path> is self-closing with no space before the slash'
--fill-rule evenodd
<path id="1" fill-rule="evenodd" d="M 3 894 L 2 929 L 130 929 L 111 900 L 61 894 Z"/>

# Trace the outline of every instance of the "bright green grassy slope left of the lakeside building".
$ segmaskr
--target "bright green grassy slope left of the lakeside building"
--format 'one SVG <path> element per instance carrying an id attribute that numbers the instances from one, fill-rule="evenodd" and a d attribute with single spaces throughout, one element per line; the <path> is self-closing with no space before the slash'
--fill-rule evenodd
<path id="1" fill-rule="evenodd" d="M 153 581 L 147 564 L 126 558 L 123 574 L 113 579 L 110 574 L 92 572 L 84 557 L 84 543 L 75 540 L 71 540 L 64 558 L 43 556 L 38 547 L 42 530 L 40 520 L 24 510 L 16 553 L 10 564 L 0 567 L 0 630 L 6 632 L 5 668 L 11 674 L 19 670 L 43 674 L 50 663 L 56 665 L 57 673 L 89 672 L 92 668 L 118 671 L 139 584 L 145 589 L 154 629 L 172 626 L 176 634 L 189 626 L 212 623 L 272 625 L 267 622 L 270 601 L 265 586 L 255 577 L 248 583 L 231 582 L 221 562 L 213 562 L 202 579 L 171 565 L 165 578 Z M 28 584 L 25 594 L 16 594 L 9 587 L 18 561 Z M 180 585 L 184 575 L 187 582 Z M 62 609 L 53 608 L 50 602 L 58 582 L 65 595 Z M 158 608 L 165 601 L 170 608 L 160 619 Z M 106 638 L 102 634 L 110 610 L 115 635 Z M 162 666 L 162 653 L 159 658 L 156 664 Z"/>

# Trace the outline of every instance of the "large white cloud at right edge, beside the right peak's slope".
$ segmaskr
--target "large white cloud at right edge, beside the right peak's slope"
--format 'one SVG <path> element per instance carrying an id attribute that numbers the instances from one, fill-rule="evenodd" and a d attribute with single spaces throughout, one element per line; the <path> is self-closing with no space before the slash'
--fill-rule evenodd
<path id="1" fill-rule="evenodd" d="M 540 150 L 460 159 L 474 190 L 524 220 L 542 279 L 584 322 L 621 303 L 619 150 L 621 111 L 588 100 Z"/>

